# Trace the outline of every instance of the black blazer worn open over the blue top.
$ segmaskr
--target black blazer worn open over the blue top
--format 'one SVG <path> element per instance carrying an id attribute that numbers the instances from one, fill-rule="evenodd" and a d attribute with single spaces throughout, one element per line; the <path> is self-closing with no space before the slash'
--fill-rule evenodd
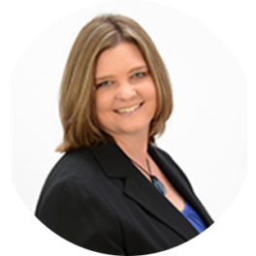
<path id="1" fill-rule="evenodd" d="M 210 228 L 214 222 L 170 155 L 151 144 L 147 152 Z M 58 238 L 111 256 L 152 255 L 199 237 L 113 142 L 65 153 L 48 175 L 35 218 Z"/>

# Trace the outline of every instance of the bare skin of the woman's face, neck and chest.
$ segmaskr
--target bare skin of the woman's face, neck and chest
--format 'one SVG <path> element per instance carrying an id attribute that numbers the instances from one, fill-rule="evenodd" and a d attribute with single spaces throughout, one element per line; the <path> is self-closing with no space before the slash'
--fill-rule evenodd
<path id="1" fill-rule="evenodd" d="M 129 73 L 131 69 L 141 66 L 145 68 Z M 145 75 L 142 74 L 144 72 Z M 96 80 L 106 76 L 112 78 Z M 141 51 L 129 43 L 103 51 L 96 63 L 95 80 L 95 85 L 101 83 L 95 88 L 95 112 L 102 130 L 112 135 L 123 152 L 149 173 L 147 158 L 151 174 L 157 176 L 167 190 L 166 198 L 178 210 L 183 210 L 184 199 L 146 152 L 149 125 L 157 108 L 157 91 Z M 130 116 L 113 112 L 141 102 L 144 102 L 142 109 Z M 137 168 L 150 181 L 150 177 Z"/>

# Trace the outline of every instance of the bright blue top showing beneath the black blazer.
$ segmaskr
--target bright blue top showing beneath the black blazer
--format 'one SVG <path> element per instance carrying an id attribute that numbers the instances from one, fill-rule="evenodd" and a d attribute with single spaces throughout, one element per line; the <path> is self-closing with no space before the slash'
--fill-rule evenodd
<path id="1" fill-rule="evenodd" d="M 200 217 L 195 209 L 188 204 L 187 201 L 185 201 L 185 208 L 181 211 L 181 213 L 194 226 L 200 235 L 208 230 L 205 221 Z"/>

